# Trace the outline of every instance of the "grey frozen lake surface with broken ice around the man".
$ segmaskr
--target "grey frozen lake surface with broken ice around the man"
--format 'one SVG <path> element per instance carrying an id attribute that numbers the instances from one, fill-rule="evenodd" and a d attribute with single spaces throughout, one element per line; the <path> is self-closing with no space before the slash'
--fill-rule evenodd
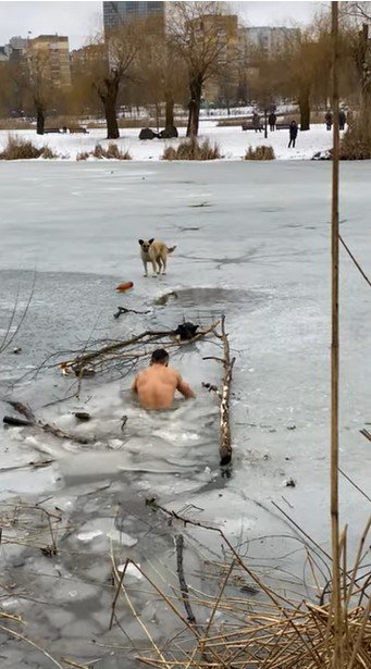
<path id="1" fill-rule="evenodd" d="M 371 165 L 343 163 L 341 174 L 342 235 L 370 274 Z M 2 431 L 1 508 L 45 500 L 63 522 L 53 558 L 30 542 L 14 545 L 11 534 L 2 541 L 0 607 L 23 615 L 27 636 L 57 658 L 126 669 L 128 661 L 110 651 L 126 640 L 118 628 L 107 632 L 109 554 L 133 557 L 152 575 L 172 580 L 171 531 L 145 507 L 153 496 L 177 511 L 194 505 L 198 520 L 217 523 L 243 545 L 251 567 L 281 580 L 287 593 L 302 593 L 305 550 L 285 538 L 293 528 L 272 501 L 330 552 L 331 163 L 0 162 L 0 336 L 16 296 L 17 321 L 34 289 L 18 334 L 0 356 L 1 398 L 28 401 L 38 418 L 70 431 L 76 429 L 72 412 L 87 410 L 92 421 L 77 430 L 96 437 L 84 447 L 29 429 Z M 143 276 L 137 239 L 151 236 L 177 245 L 160 278 Z M 371 420 L 371 305 L 343 249 L 341 267 L 341 467 L 369 493 L 370 447 L 359 430 Z M 126 281 L 134 290 L 118 295 L 115 286 Z M 170 292 L 177 299 L 158 305 Z M 119 305 L 149 313 L 115 320 Z M 201 387 L 220 379 L 217 362 L 202 361 L 212 345 L 183 349 L 174 360 L 197 399 L 165 416 L 133 404 L 133 375 L 86 380 L 78 400 L 59 402 L 71 395 L 71 382 L 55 368 L 35 374 L 48 356 L 79 350 L 87 339 L 172 329 L 184 317 L 208 324 L 221 312 L 237 359 L 230 479 L 218 464 L 215 398 Z M 22 352 L 14 355 L 14 347 Z M 2 416 L 11 413 L 5 401 L 0 406 Z M 52 462 L 40 469 L 12 469 L 47 458 Z M 288 479 L 295 487 L 286 487 Z M 369 506 L 344 478 L 341 493 L 351 552 Z M 206 548 L 191 543 L 191 531 L 185 535 L 185 559 L 198 570 Z M 196 538 L 219 555 L 218 538 Z M 135 596 L 146 616 L 143 597 Z M 121 615 L 135 639 L 137 625 Z M 157 616 L 147 611 L 153 634 Z M 21 643 L 2 645 L 1 657 L 2 669 L 51 666 Z"/>

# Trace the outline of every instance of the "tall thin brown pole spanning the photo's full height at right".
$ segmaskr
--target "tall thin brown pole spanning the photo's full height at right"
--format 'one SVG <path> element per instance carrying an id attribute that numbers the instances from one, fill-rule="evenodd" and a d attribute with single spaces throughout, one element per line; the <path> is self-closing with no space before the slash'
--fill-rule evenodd
<path id="1" fill-rule="evenodd" d="M 343 669 L 343 616 L 341 595 L 341 555 L 338 521 L 338 2 L 331 3 L 332 37 L 332 111 L 333 160 L 332 160 L 332 340 L 331 340 L 331 535 L 332 581 L 334 611 L 333 669 Z"/>

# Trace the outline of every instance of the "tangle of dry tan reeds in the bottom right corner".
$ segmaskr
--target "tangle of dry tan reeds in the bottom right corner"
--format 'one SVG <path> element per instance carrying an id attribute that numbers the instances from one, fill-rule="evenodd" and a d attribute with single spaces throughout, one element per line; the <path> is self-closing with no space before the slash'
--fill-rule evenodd
<path id="1" fill-rule="evenodd" d="M 148 504 L 152 506 L 153 500 Z M 157 507 L 156 503 L 154 506 Z M 126 585 L 125 573 L 118 571 L 112 556 L 116 594 L 111 620 L 119 620 L 116 609 L 122 597 L 125 610 L 127 611 L 127 607 L 132 610 L 144 633 L 140 651 L 137 652 L 137 657 L 144 665 L 166 669 L 333 669 L 335 667 L 336 632 L 332 582 L 331 580 L 325 582 L 316 567 L 318 552 L 311 554 L 306 545 L 308 567 L 312 574 L 311 589 L 314 594 L 317 593 L 317 598 L 310 602 L 299 596 L 296 600 L 290 600 L 287 598 L 286 587 L 280 593 L 265 585 L 251 570 L 248 561 L 242 559 L 221 530 L 202 525 L 174 511 L 166 511 L 163 507 L 157 508 L 162 512 L 165 511 L 168 518 L 171 518 L 169 522 L 175 532 L 182 532 L 182 529 L 185 525 L 189 528 L 189 524 L 218 532 L 224 542 L 224 553 L 230 556 L 230 561 L 206 565 L 205 571 L 210 579 L 213 595 L 210 595 L 210 592 L 203 594 L 193 587 L 189 575 L 188 583 L 184 584 L 183 581 L 182 585 L 180 579 L 178 587 L 172 584 L 171 594 L 166 594 L 146 575 L 140 566 L 136 565 L 136 569 L 145 579 L 146 596 L 149 586 L 153 590 L 158 615 L 160 615 L 159 603 L 162 600 L 168 615 L 171 610 L 174 623 L 177 622 L 175 631 L 172 630 L 172 639 L 168 641 L 161 639 L 159 642 L 151 636 L 151 630 L 146 627 L 140 612 L 136 610 L 133 595 L 136 597 L 137 593 L 133 590 L 132 595 L 133 586 L 131 587 L 129 583 Z M 347 568 L 346 562 L 346 532 L 341 538 L 343 660 L 336 664 L 336 669 L 370 667 L 371 600 L 367 587 L 371 573 L 366 569 L 367 565 L 362 566 L 368 553 L 367 536 L 370 524 L 371 521 L 361 537 L 351 569 Z M 189 529 L 187 537 L 191 541 Z M 129 562 L 132 560 L 128 559 L 126 565 Z M 177 560 L 177 569 L 178 563 Z M 327 567 L 331 568 L 331 559 Z M 242 596 L 240 586 L 244 582 L 246 583 L 244 592 L 253 593 L 251 581 L 255 592 L 260 593 L 259 597 L 252 598 L 249 594 Z M 203 583 L 206 584 L 206 580 Z M 189 611 L 191 622 L 189 622 Z"/>

